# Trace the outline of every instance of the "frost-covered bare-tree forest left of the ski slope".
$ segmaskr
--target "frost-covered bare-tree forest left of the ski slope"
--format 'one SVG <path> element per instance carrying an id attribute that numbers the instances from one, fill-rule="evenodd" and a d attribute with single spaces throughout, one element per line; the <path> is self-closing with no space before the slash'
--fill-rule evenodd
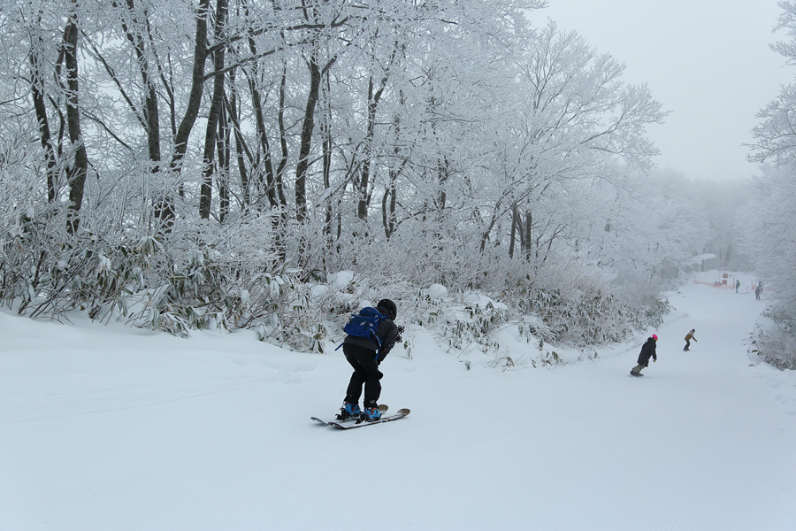
<path id="1" fill-rule="evenodd" d="M 719 234 L 649 173 L 662 104 L 531 27 L 543 4 L 5 2 L 3 304 L 288 335 L 349 270 L 415 307 L 432 283 L 566 300 L 564 338 L 595 297 L 616 330 L 586 342 L 643 327 Z"/>

